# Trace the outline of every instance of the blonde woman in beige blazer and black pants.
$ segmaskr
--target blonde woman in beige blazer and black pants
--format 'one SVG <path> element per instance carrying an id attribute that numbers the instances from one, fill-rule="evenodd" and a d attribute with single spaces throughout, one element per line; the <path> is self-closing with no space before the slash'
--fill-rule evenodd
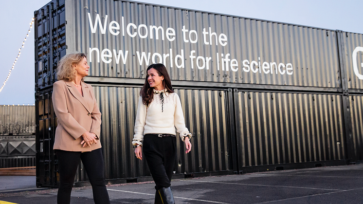
<path id="1" fill-rule="evenodd" d="M 101 112 L 91 85 L 83 82 L 90 66 L 83 53 L 68 54 L 59 61 L 58 81 L 53 85 L 57 116 L 54 150 L 59 165 L 58 204 L 69 204 L 79 161 L 90 179 L 95 204 L 109 204 L 105 164 L 99 142 Z"/>

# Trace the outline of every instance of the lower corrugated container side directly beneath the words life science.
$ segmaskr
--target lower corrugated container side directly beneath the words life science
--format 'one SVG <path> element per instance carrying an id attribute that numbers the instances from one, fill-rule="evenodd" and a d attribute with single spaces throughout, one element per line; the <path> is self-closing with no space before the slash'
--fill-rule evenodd
<path id="1" fill-rule="evenodd" d="M 342 96 L 237 92 L 240 167 L 345 159 Z"/>

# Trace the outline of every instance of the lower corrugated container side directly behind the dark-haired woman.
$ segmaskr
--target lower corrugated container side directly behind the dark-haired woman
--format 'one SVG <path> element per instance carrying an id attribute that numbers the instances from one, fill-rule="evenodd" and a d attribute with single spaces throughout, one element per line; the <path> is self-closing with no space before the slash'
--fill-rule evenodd
<path id="1" fill-rule="evenodd" d="M 106 179 L 150 176 L 146 160 L 135 158 L 131 144 L 139 92 L 140 88 L 133 87 L 94 87 L 102 112 L 101 144 Z M 231 170 L 225 91 L 176 89 L 175 92 L 182 102 L 186 127 L 195 136 L 191 140 L 193 149 L 187 155 L 184 143 L 178 137 L 175 173 Z M 86 172 L 80 166 L 76 182 L 87 180 Z"/>

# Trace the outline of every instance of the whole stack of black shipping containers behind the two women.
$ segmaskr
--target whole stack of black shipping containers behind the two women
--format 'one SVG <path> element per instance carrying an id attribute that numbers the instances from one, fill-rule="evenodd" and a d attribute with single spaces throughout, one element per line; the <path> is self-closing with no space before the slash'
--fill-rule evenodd
<path id="1" fill-rule="evenodd" d="M 151 179 L 131 141 L 152 63 L 165 64 L 195 136 L 187 155 L 178 141 L 176 177 L 363 160 L 352 102 L 363 95 L 363 75 L 353 74 L 362 34 L 128 0 L 52 0 L 35 27 L 39 186 L 58 179 L 51 94 L 57 62 L 72 52 L 88 56 L 110 183 Z M 85 181 L 80 166 L 75 182 Z"/>

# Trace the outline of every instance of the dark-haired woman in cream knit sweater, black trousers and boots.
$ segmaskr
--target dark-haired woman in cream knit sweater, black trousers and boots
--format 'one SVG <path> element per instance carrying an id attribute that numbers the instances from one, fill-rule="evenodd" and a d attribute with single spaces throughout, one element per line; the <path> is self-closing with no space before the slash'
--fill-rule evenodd
<path id="1" fill-rule="evenodd" d="M 163 64 L 152 64 L 146 70 L 140 91 L 132 145 L 136 157 L 143 159 L 141 147 L 155 182 L 155 204 L 174 204 L 170 189 L 171 176 L 177 156 L 176 131 L 191 150 L 192 134 L 185 127 L 182 104 L 174 93 L 170 76 Z"/>

